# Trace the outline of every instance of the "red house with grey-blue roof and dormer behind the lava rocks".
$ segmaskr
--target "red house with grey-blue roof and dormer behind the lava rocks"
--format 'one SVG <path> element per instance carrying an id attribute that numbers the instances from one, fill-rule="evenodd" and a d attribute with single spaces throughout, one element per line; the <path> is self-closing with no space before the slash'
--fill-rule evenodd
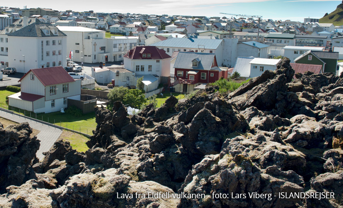
<path id="1" fill-rule="evenodd" d="M 218 67 L 214 53 L 179 52 L 175 64 L 175 91 L 191 92 L 200 84 L 227 78 L 227 70 Z"/>

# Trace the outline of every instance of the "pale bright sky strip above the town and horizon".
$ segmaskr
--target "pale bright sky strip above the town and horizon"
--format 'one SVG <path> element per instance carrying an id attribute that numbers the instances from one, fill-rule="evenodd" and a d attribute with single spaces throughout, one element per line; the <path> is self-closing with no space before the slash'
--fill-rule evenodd
<path id="1" fill-rule="evenodd" d="M 243 14 L 258 15 L 263 19 L 303 22 L 304 18 L 321 18 L 334 11 L 341 0 L 113 0 L 95 3 L 94 0 L 16 0 L 1 6 L 24 8 L 50 8 L 59 11 L 89 11 L 140 13 L 155 15 L 190 15 L 231 17 Z M 235 17 L 235 16 L 232 16 Z M 236 17 L 237 18 L 237 17 Z"/>

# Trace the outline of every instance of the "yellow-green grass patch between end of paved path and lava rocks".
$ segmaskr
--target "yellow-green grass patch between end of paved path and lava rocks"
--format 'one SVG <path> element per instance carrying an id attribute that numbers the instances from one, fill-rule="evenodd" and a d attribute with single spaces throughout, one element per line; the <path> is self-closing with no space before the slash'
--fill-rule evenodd
<path id="1" fill-rule="evenodd" d="M 89 148 L 86 142 L 89 140 L 82 134 L 74 133 L 73 131 L 63 130 L 62 134 L 58 139 L 63 139 L 64 141 L 70 142 L 70 145 L 77 152 L 86 152 Z"/>

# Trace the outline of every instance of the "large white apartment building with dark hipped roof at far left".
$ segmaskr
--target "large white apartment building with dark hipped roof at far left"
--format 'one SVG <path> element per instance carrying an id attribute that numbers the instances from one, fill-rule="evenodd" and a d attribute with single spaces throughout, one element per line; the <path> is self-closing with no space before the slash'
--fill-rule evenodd
<path id="1" fill-rule="evenodd" d="M 29 23 L 30 20 L 24 18 L 22 28 L 5 28 L 5 33 L 0 35 L 3 36 L 3 44 L 7 44 L 0 56 L 2 60 L 7 58 L 5 66 L 15 67 L 20 73 L 36 68 L 66 66 L 63 58 L 66 57 L 66 34 L 49 23 L 38 19 Z"/>

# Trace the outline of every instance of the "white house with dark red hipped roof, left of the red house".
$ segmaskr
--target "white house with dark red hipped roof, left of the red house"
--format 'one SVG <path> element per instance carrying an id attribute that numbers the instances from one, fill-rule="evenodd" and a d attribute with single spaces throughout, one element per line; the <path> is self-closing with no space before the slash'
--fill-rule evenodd
<path id="1" fill-rule="evenodd" d="M 161 77 L 170 76 L 171 56 L 155 46 L 136 46 L 124 55 L 124 68 L 144 77 L 146 92 L 157 89 Z"/>

